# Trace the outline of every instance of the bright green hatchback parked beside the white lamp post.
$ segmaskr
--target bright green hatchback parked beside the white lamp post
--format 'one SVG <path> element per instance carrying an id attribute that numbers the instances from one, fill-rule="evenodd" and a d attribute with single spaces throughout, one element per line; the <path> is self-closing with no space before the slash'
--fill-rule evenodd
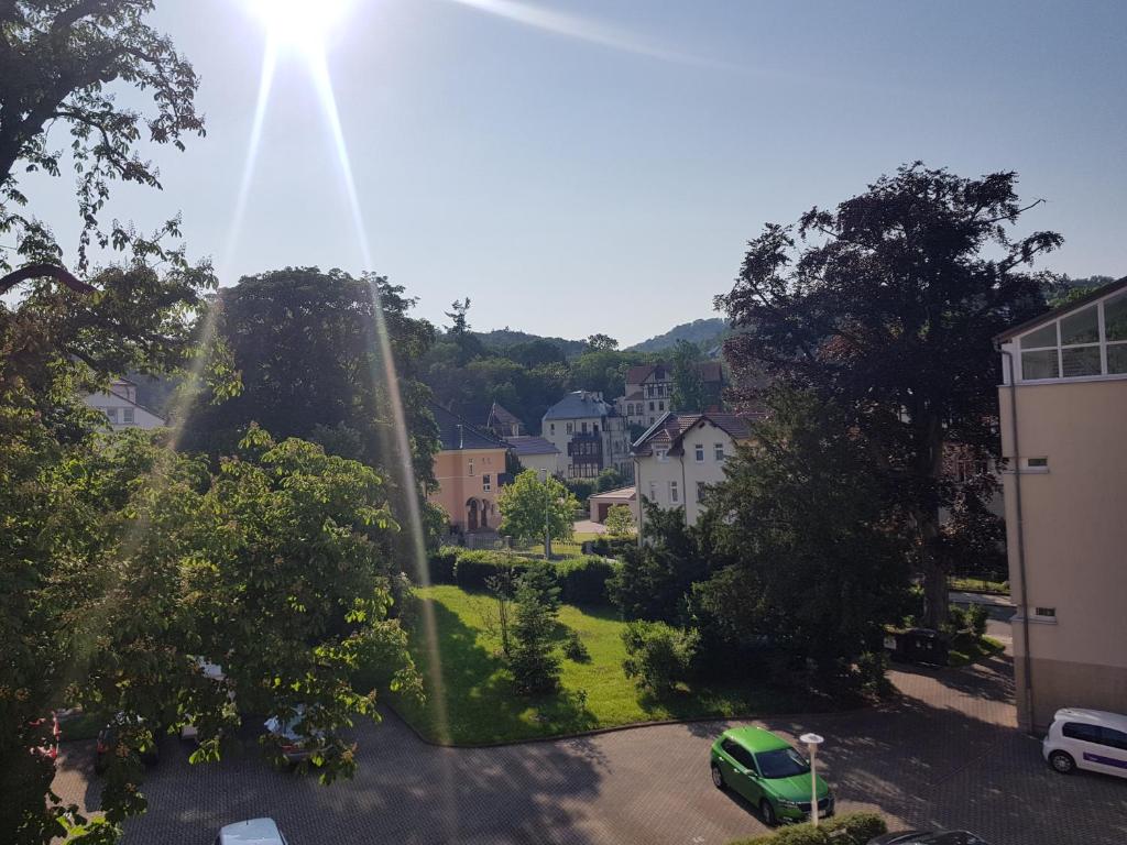
<path id="1" fill-rule="evenodd" d="M 806 821 L 810 815 L 810 763 L 787 740 L 762 728 L 733 728 L 712 744 L 712 783 L 757 807 L 763 821 Z M 834 815 L 834 797 L 817 777 L 818 818 Z"/>

